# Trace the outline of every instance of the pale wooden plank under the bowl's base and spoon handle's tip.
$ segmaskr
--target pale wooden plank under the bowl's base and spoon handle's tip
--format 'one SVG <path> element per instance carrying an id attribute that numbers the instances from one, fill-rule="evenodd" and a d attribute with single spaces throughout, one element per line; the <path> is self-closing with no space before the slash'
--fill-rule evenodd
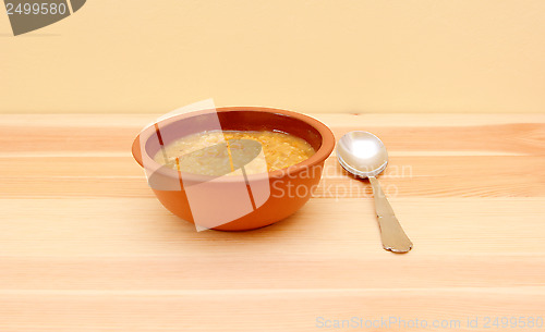
<path id="1" fill-rule="evenodd" d="M 155 198 L 0 199 L 0 209 L 10 211 L 8 221 L 0 223 L 0 243 L 4 258 L 227 255 L 243 261 L 258 260 L 259 256 L 247 254 L 255 251 L 405 261 L 417 255 L 545 253 L 540 251 L 545 246 L 545 198 L 390 200 L 408 234 L 419 243 L 410 256 L 384 255 L 388 253 L 379 245 L 371 198 L 313 199 L 277 224 L 234 233 L 196 233 Z"/>

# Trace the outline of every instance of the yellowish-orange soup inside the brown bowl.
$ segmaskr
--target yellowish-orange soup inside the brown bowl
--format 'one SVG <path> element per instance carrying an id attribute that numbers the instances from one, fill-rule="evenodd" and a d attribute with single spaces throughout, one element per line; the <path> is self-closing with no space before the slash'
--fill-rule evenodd
<path id="1" fill-rule="evenodd" d="M 263 151 L 262 151 L 263 147 Z M 157 152 L 154 160 L 173 170 L 203 175 L 276 171 L 315 153 L 304 139 L 281 132 L 214 131 L 181 137 Z"/>

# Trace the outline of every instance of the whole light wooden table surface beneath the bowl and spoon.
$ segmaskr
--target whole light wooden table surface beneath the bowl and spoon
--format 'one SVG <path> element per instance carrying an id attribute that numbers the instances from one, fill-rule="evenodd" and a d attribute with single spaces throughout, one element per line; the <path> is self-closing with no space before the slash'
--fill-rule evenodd
<path id="1" fill-rule="evenodd" d="M 315 116 L 337 138 L 384 140 L 379 181 L 411 253 L 382 248 L 370 184 L 335 155 L 294 216 L 197 233 L 131 157 L 155 115 L 0 115 L 0 331 L 475 331 L 545 318 L 545 114 Z"/>

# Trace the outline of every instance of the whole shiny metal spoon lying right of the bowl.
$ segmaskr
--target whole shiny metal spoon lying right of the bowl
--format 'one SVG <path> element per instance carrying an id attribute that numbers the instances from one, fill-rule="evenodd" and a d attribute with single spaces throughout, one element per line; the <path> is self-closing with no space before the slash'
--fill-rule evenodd
<path id="1" fill-rule="evenodd" d="M 367 177 L 373 186 L 375 209 L 380 228 L 383 247 L 393 253 L 407 253 L 412 248 L 403 229 L 399 224 L 376 175 L 386 169 L 388 152 L 383 142 L 367 132 L 350 132 L 337 144 L 337 159 L 348 172 L 355 176 Z"/>

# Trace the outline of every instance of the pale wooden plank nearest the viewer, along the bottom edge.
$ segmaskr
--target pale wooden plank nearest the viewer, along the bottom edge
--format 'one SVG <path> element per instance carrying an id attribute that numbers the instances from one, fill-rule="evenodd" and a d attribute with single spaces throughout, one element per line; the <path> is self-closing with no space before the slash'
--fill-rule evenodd
<path id="1" fill-rule="evenodd" d="M 0 312 L 10 312 L 8 320 L 0 319 L 0 329 L 336 331 L 340 329 L 332 328 L 335 320 L 354 319 L 358 325 L 344 325 L 343 330 L 497 331 L 491 318 L 516 315 L 517 318 L 532 317 L 534 322 L 535 317 L 543 319 L 540 309 L 545 306 L 544 295 L 544 287 L 12 292 L 0 293 Z M 31 306 L 32 320 L 28 319 Z M 469 323 L 475 319 L 477 328 Z M 385 324 L 385 320 L 391 323 Z M 378 321 L 374 328 L 365 325 L 374 321 Z M 422 328 L 424 321 L 427 328 Z M 485 328 L 486 321 L 488 328 Z M 541 329 L 534 325 L 512 330 Z"/>

